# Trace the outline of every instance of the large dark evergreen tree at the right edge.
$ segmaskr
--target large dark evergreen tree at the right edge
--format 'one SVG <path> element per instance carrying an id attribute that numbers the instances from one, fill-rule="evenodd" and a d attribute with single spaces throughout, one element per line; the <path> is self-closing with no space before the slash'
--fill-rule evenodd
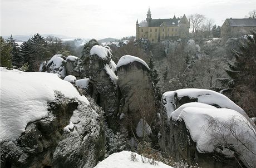
<path id="1" fill-rule="evenodd" d="M 240 41 L 240 52 L 233 50 L 234 63 L 229 63 L 225 71 L 232 80 L 232 99 L 250 117 L 256 116 L 256 32 Z"/>

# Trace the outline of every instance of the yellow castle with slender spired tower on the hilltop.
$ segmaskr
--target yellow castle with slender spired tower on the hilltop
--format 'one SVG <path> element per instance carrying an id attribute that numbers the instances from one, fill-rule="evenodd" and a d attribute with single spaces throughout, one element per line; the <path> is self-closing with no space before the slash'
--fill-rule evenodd
<path id="1" fill-rule="evenodd" d="M 136 39 L 147 38 L 150 42 L 164 39 L 186 38 L 189 34 L 190 21 L 183 17 L 170 19 L 152 19 L 150 8 L 145 21 L 136 22 Z"/>

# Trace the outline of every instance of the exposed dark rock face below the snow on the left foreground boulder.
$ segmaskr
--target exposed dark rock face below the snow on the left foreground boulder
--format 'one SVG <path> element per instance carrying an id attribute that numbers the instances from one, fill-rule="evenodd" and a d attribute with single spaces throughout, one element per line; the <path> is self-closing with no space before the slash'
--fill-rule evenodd
<path id="1" fill-rule="evenodd" d="M 57 93 L 48 117 L 29 123 L 17 141 L 1 142 L 1 167 L 95 166 L 104 159 L 105 139 L 93 108 Z M 72 117 L 73 126 L 63 129 Z"/>

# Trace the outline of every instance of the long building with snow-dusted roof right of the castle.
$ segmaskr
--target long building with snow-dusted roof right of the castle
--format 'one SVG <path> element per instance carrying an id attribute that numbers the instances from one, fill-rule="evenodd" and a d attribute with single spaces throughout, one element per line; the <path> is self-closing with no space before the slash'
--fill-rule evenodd
<path id="1" fill-rule="evenodd" d="M 226 19 L 221 26 L 221 37 L 240 37 L 244 34 L 250 33 L 252 29 L 256 31 L 255 18 L 242 18 L 242 19 Z"/>

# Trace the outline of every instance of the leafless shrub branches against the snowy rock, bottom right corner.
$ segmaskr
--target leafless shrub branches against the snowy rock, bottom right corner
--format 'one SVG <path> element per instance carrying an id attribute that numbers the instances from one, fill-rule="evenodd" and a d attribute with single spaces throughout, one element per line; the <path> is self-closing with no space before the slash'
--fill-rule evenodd
<path id="1" fill-rule="evenodd" d="M 247 167 L 256 167 L 254 123 L 238 116 L 230 117 L 228 121 L 211 118 L 209 123 L 207 127 L 211 135 L 211 143 L 218 144 L 216 147 L 220 147 L 223 151 L 227 150 L 226 154 L 234 157 L 240 167 L 243 167 L 240 160 Z"/>

